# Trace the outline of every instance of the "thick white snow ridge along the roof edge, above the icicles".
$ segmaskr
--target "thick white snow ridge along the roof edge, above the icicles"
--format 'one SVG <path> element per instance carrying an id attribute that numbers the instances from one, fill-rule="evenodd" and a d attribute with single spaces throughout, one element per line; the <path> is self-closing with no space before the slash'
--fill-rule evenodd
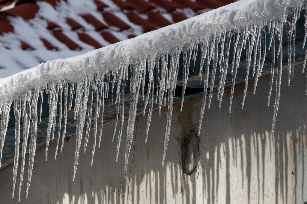
<path id="1" fill-rule="evenodd" d="M 223 31 L 260 24 L 280 16 L 284 6 L 301 0 L 246 0 L 232 3 L 182 22 L 160 28 L 76 57 L 41 63 L 37 67 L 0 79 L 0 104 L 12 101 L 26 90 L 59 80 L 76 81 L 93 72 L 115 70 L 149 56 L 165 54 Z"/>

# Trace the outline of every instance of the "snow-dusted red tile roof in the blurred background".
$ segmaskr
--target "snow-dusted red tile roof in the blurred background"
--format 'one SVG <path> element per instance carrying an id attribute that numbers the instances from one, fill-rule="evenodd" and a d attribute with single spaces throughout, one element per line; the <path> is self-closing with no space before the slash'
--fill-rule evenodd
<path id="1" fill-rule="evenodd" d="M 17 73 L 25 65 L 34 67 L 38 58 L 48 61 L 83 54 L 234 1 L 0 0 L 0 48 L 5 48 L 0 49 L 0 76 Z M 15 18 L 20 18 L 19 24 Z"/>

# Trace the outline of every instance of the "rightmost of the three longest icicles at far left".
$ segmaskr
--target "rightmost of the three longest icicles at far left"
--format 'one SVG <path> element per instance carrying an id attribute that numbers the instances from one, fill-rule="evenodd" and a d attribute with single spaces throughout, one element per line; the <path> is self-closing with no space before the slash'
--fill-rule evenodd
<path id="1" fill-rule="evenodd" d="M 26 198 L 28 198 L 29 187 L 32 178 L 32 170 L 34 164 L 35 150 L 36 150 L 36 137 L 37 137 L 37 102 L 39 96 L 39 88 L 33 91 L 32 101 L 31 101 L 31 140 L 29 145 L 29 168 L 28 168 L 28 182 L 26 190 Z M 29 114 L 29 113 L 28 113 Z M 30 123 L 30 121 L 28 121 Z M 24 142 L 24 141 L 23 141 Z"/>

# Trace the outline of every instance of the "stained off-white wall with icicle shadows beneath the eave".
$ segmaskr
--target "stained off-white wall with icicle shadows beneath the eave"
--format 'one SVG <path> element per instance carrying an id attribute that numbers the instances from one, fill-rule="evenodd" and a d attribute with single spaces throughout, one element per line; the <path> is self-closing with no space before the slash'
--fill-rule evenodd
<path id="1" fill-rule="evenodd" d="M 292 148 L 306 145 L 306 76 L 301 74 L 301 66 L 296 66 L 288 87 L 286 70 L 283 73 L 273 140 L 270 129 L 275 89 L 268 107 L 270 76 L 262 76 L 255 95 L 251 89 L 254 81 L 249 81 L 243 110 L 242 83 L 236 86 L 231 114 L 228 113 L 230 89 L 225 90 L 220 111 L 216 95 L 213 96 L 212 108 L 205 110 L 198 166 L 191 175 L 181 170 L 181 144 L 191 130 L 197 132 L 200 99 L 185 101 L 182 112 L 180 104 L 174 105 L 164 167 L 161 163 L 167 109 L 162 110 L 161 117 L 157 111 L 153 113 L 147 144 L 147 117 L 138 118 L 135 148 L 133 143 L 130 154 L 131 165 L 134 152 L 131 172 L 130 165 L 128 169 L 130 183 L 123 172 L 126 135 L 116 163 L 117 141 L 111 141 L 114 124 L 109 124 L 103 128 L 102 147 L 96 149 L 93 167 L 92 138 L 86 156 L 80 154 L 75 181 L 72 181 L 74 137 L 65 142 L 56 160 L 52 156 L 56 143 L 49 146 L 47 162 L 45 148 L 38 149 L 29 198 L 25 199 L 25 176 L 21 203 L 127 203 L 128 200 L 129 203 L 292 203 Z M 16 194 L 11 198 L 12 169 L 11 165 L 0 172 L 0 203 L 17 203 Z"/>

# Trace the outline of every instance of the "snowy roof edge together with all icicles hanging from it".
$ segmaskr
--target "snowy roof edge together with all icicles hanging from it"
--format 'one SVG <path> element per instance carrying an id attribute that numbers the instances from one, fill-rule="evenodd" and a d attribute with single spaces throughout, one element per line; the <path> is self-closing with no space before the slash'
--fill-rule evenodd
<path id="1" fill-rule="evenodd" d="M 258 78 L 261 76 L 264 59 L 266 57 L 264 50 L 272 50 L 273 60 L 268 105 L 275 80 L 277 91 L 272 122 L 273 135 L 280 100 L 283 30 L 285 29 L 289 42 L 287 69 L 288 84 L 290 84 L 290 76 L 294 68 L 296 22 L 303 10 L 306 10 L 306 2 L 301 0 L 245 0 L 235 2 L 157 31 L 140 35 L 134 39 L 115 43 L 80 56 L 48 61 L 35 68 L 1 79 L 0 160 L 11 106 L 13 106 L 15 116 L 16 136 L 13 168 L 13 197 L 19 163 L 21 163 L 19 199 L 25 173 L 24 166 L 27 144 L 20 144 L 20 135 L 22 135 L 23 141 L 27 141 L 30 137 L 29 172 L 26 190 L 28 195 L 36 149 L 37 123 L 38 119 L 41 118 L 42 112 L 42 100 L 47 100 L 49 103 L 49 122 L 46 130 L 46 160 L 49 153 L 49 143 L 50 141 L 54 141 L 55 134 L 59 135 L 56 141 L 56 152 L 59 148 L 61 151 L 63 149 L 63 140 L 67 125 L 67 111 L 72 109 L 72 104 L 74 103 L 74 118 L 77 124 L 73 178 L 77 171 L 84 125 L 87 126 L 84 154 L 91 131 L 94 136 L 94 145 L 91 147 L 91 165 L 94 161 L 95 148 L 96 146 L 100 147 L 103 134 L 103 120 L 99 124 L 98 118 L 101 117 L 103 119 L 104 99 L 109 97 L 109 90 L 112 92 L 112 97 L 115 97 L 114 106 L 116 109 L 114 111 L 116 112 L 117 119 L 115 120 L 115 132 L 119 129 L 118 134 L 116 135 L 114 132 L 113 135 L 113 140 L 115 139 L 116 141 L 117 139 L 116 161 L 119 156 L 122 132 L 126 131 L 127 134 L 125 176 L 133 141 L 134 122 L 138 109 L 139 96 L 141 96 L 141 100 L 145 104 L 143 110 L 144 116 L 146 111 L 149 112 L 147 116 L 146 135 L 144 135 L 145 142 L 147 142 L 148 138 L 153 104 L 156 103 L 159 105 L 159 113 L 161 113 L 162 104 L 165 105 L 167 103 L 168 112 L 162 158 L 162 165 L 164 165 L 171 131 L 173 112 L 173 106 L 171 104 L 173 104 L 178 73 L 181 72 L 179 70 L 181 69 L 179 66 L 181 55 L 183 56 L 181 110 L 184 103 L 189 69 L 192 67 L 194 69 L 192 64 L 194 63 L 195 65 L 197 54 L 200 54 L 201 58 L 199 75 L 204 82 L 204 96 L 200 111 L 200 132 L 205 108 L 206 106 L 210 108 L 212 101 L 215 77 L 219 76 L 217 98 L 220 108 L 227 72 L 230 71 L 232 74 L 231 100 L 229 106 L 229 112 L 231 112 L 237 70 L 241 55 L 246 51 L 247 68 L 242 101 L 243 108 L 248 79 L 251 77 L 249 75 L 250 69 L 252 70 L 252 76 L 255 77 L 255 93 Z M 307 21 L 305 21 L 304 26 L 305 38 L 303 46 L 305 46 L 306 41 Z M 267 36 L 269 36 L 269 42 L 266 40 Z M 231 50 L 233 51 L 231 52 Z M 306 59 L 305 57 L 304 67 Z M 220 69 L 220 73 L 217 72 L 217 68 Z M 204 77 L 202 77 L 203 74 Z M 146 81 L 147 76 L 149 80 Z M 211 80 L 209 80 L 209 76 L 211 76 Z M 154 80 L 155 78 L 157 81 Z M 130 107 L 125 107 L 124 104 L 124 96 L 128 94 L 125 93 L 126 87 L 130 87 Z M 208 98 L 207 90 L 209 90 Z M 48 98 L 43 98 L 43 93 L 47 93 Z M 40 103 L 38 103 L 39 101 Z M 56 111 L 57 107 L 60 109 L 59 114 Z M 126 130 L 123 130 L 124 109 L 129 109 Z M 94 117 L 94 130 L 90 130 L 89 128 L 92 114 Z M 89 120 L 85 123 L 86 117 Z M 59 118 L 58 123 L 56 123 L 57 118 Z M 62 126 L 62 142 L 60 143 L 61 124 L 64 124 L 64 127 Z M 55 132 L 56 126 L 59 127 L 58 133 Z M 24 130 L 22 134 L 20 133 L 21 128 Z M 29 134 L 30 128 L 31 133 Z M 18 162 L 20 145 L 22 146 L 22 154 L 21 161 Z"/>

